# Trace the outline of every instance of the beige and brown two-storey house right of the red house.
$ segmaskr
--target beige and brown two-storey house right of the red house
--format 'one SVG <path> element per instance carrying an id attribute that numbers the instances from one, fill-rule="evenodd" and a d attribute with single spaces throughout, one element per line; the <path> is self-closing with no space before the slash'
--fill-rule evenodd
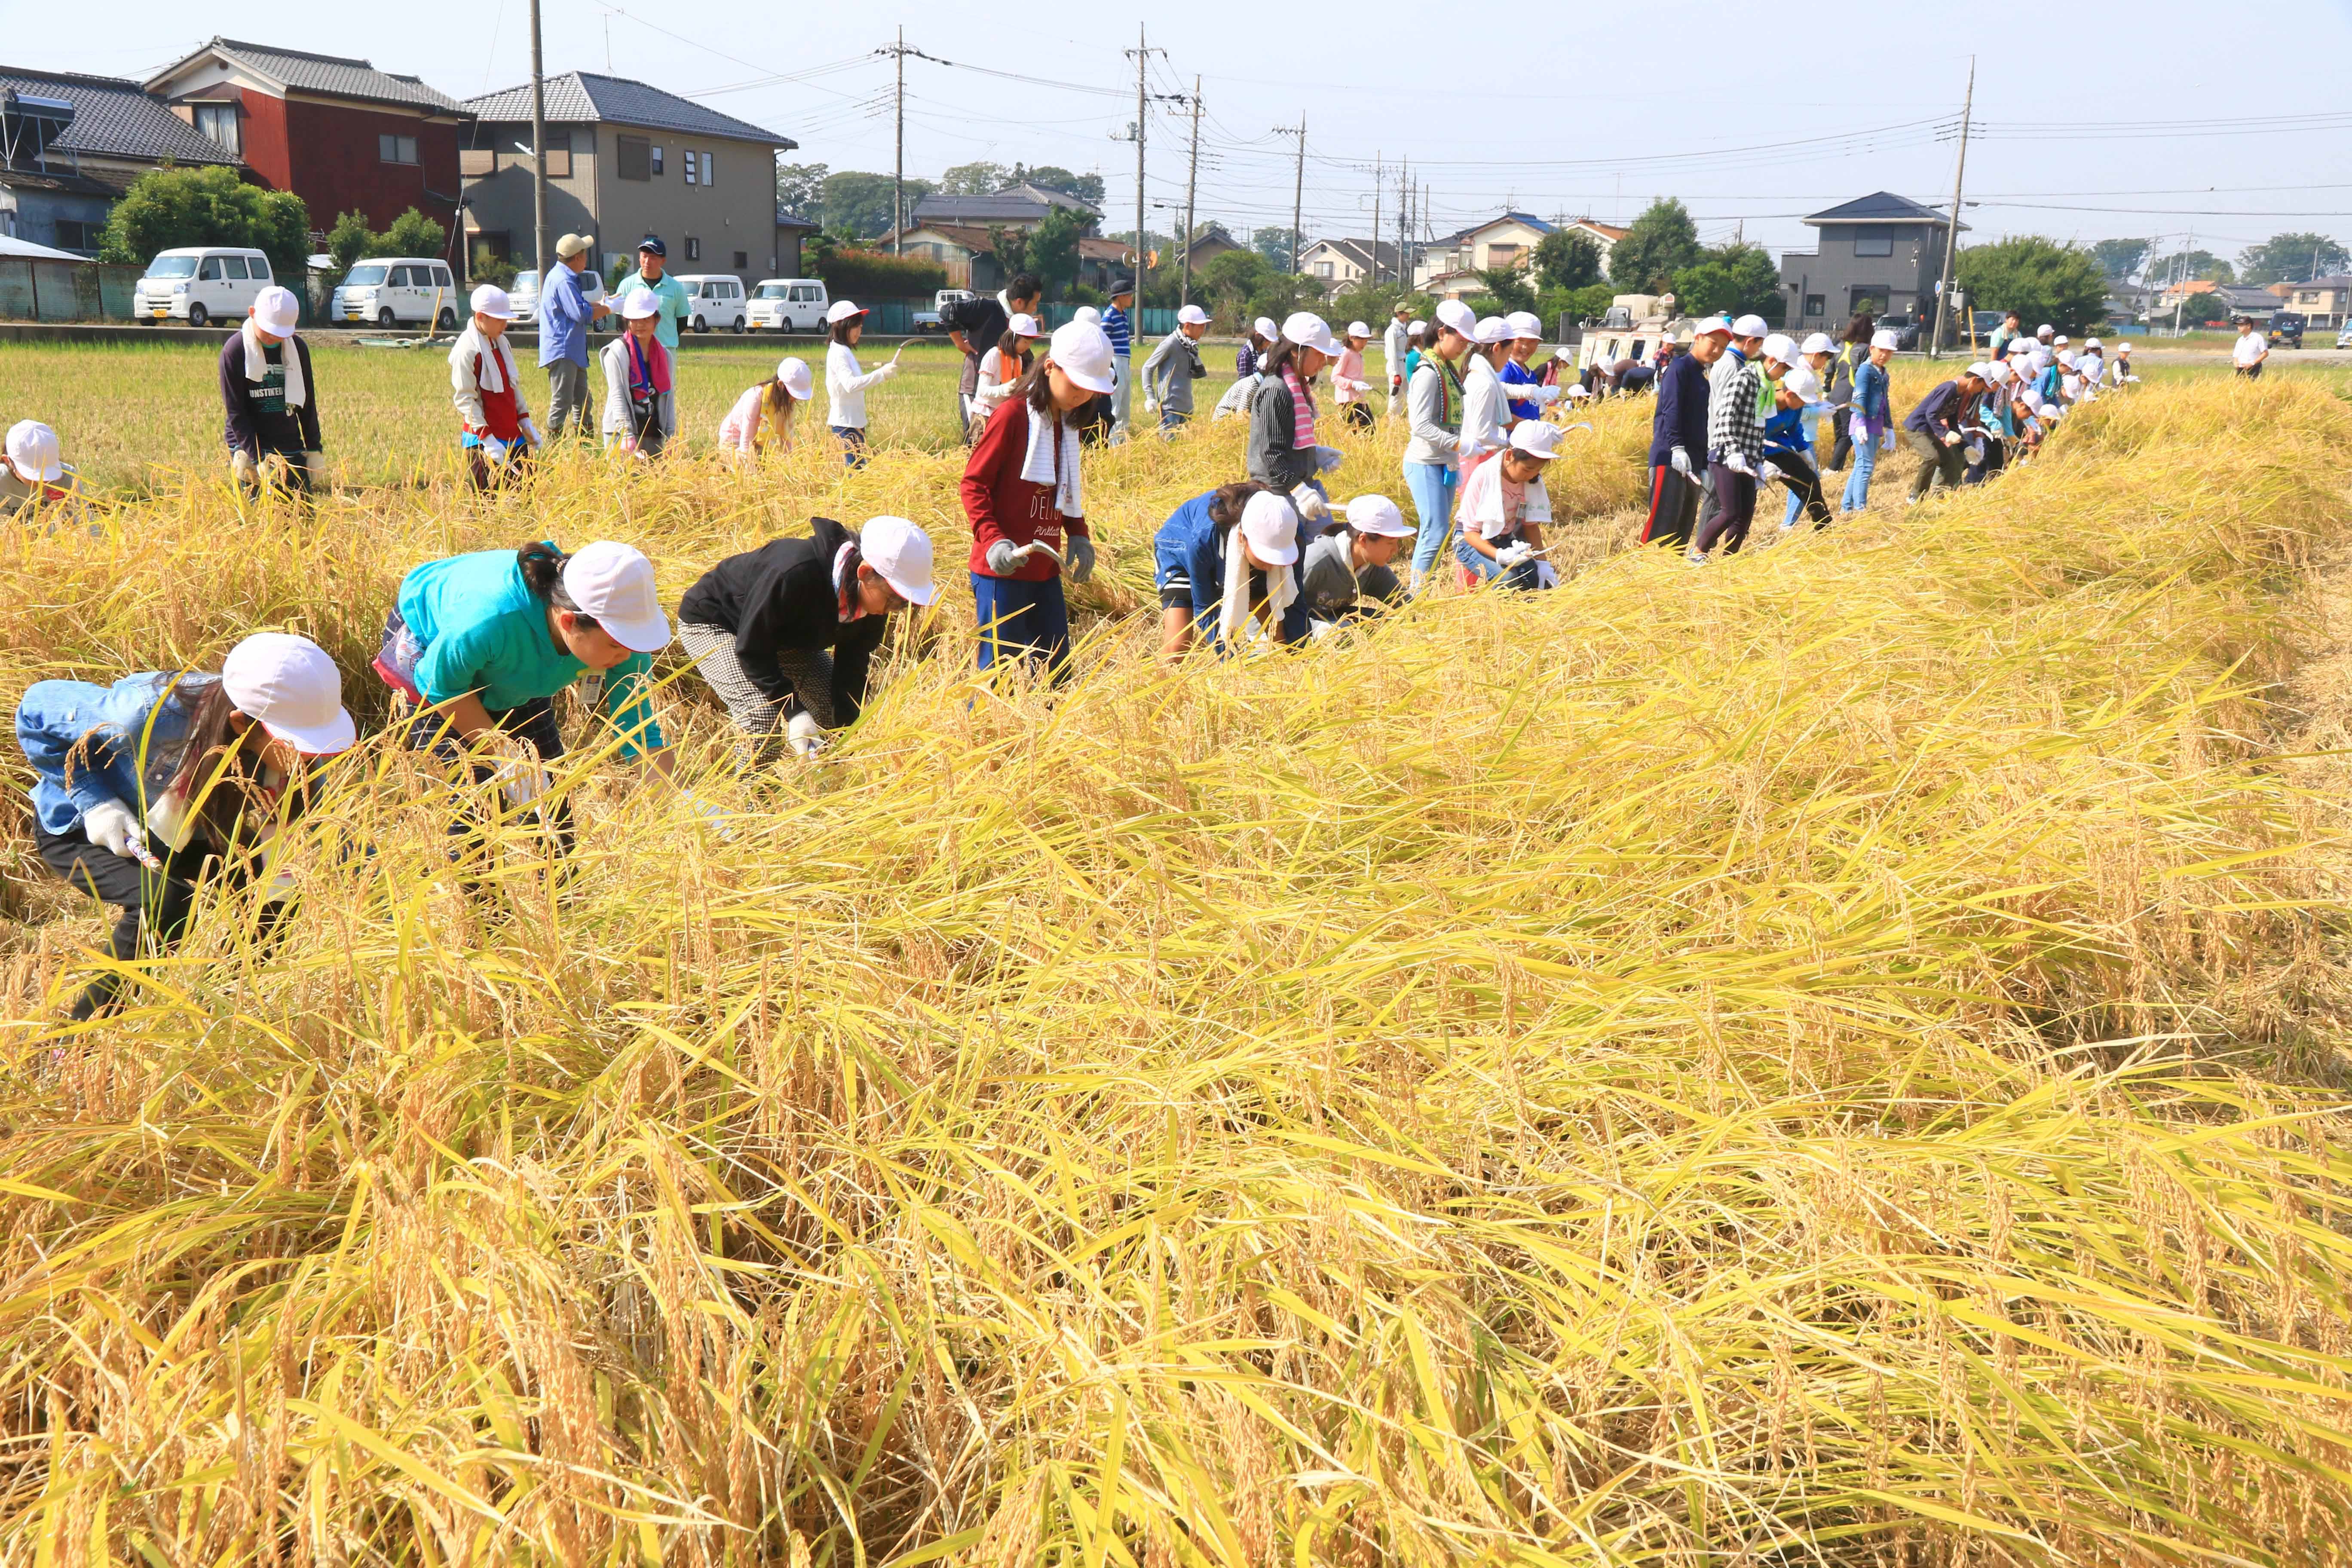
<path id="1" fill-rule="evenodd" d="M 800 146 L 790 136 L 595 71 L 550 75 L 546 106 L 550 247 L 588 235 L 612 273 L 635 266 L 637 240 L 661 235 L 670 273 L 734 273 L 746 289 L 797 268 L 802 230 L 776 214 L 776 153 Z M 532 85 L 463 108 L 468 237 L 534 266 Z"/>

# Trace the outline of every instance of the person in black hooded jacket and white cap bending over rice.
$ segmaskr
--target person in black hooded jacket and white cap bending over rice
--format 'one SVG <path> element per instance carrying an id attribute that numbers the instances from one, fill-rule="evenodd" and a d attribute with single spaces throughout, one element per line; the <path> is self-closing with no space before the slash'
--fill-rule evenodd
<path id="1" fill-rule="evenodd" d="M 931 536 L 906 517 L 851 534 L 811 517 L 809 538 L 729 555 L 677 604 L 677 639 L 760 764 L 783 745 L 816 757 L 828 729 L 856 722 L 889 614 L 938 597 Z"/>

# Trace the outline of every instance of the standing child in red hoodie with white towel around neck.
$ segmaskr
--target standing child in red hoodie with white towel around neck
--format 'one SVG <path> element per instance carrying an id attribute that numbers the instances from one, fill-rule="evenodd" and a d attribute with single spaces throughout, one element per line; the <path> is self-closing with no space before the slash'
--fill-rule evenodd
<path id="1" fill-rule="evenodd" d="M 988 430 L 964 463 L 983 670 L 1028 658 L 1056 682 L 1070 675 L 1063 564 L 1073 583 L 1094 576 L 1094 538 L 1077 477 L 1077 416 L 1110 386 L 1110 336 L 1094 322 L 1058 327 L 1044 357 L 988 416 Z"/>

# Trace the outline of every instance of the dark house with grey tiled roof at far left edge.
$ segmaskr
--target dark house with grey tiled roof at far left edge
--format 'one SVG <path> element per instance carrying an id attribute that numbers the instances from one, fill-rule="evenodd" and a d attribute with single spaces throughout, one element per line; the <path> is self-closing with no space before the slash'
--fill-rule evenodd
<path id="1" fill-rule="evenodd" d="M 0 237 L 94 256 L 115 197 L 162 162 L 240 167 L 139 82 L 0 66 Z"/>

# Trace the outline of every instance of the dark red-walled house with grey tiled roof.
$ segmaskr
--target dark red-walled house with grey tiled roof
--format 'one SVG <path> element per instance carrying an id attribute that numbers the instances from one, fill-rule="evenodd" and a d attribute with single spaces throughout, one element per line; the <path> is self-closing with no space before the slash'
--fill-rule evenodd
<path id="1" fill-rule="evenodd" d="M 459 103 L 365 59 L 214 38 L 146 89 L 273 190 L 310 207 L 310 228 L 358 209 L 390 228 L 409 207 L 456 230 Z"/>

